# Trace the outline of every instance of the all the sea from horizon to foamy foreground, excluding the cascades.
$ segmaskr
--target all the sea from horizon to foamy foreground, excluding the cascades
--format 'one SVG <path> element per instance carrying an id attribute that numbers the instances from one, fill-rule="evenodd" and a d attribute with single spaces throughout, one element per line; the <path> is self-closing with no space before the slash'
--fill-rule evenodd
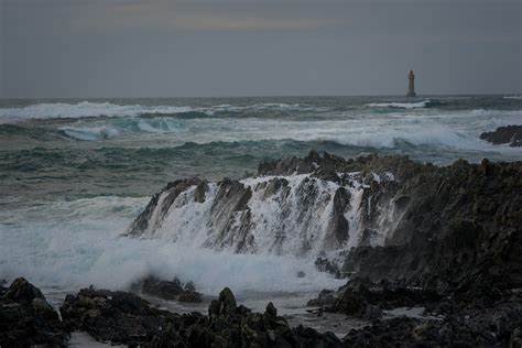
<path id="1" fill-rule="evenodd" d="M 154 273 L 205 295 L 279 294 L 290 308 L 344 282 L 292 252 L 120 235 L 176 178 L 242 178 L 263 160 L 312 149 L 437 165 L 520 161 L 520 148 L 479 139 L 508 124 L 522 124 L 520 96 L 0 100 L 0 279 L 25 276 L 58 303 L 83 286 L 126 289 Z"/>

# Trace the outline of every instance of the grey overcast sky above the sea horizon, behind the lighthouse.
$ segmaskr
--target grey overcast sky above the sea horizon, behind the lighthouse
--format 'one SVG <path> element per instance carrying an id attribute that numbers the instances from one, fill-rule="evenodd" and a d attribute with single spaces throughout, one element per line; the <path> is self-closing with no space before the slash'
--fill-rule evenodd
<path id="1" fill-rule="evenodd" d="M 522 93 L 522 1 L 0 0 L 1 97 Z"/>

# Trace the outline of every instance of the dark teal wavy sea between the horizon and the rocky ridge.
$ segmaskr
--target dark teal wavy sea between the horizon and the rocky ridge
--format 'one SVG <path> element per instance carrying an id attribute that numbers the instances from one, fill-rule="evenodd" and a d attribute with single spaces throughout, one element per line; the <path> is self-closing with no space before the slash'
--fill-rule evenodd
<path id="1" fill-rule="evenodd" d="M 513 161 L 520 150 L 478 139 L 512 123 L 522 123 L 516 96 L 1 100 L 0 195 L 148 196 L 312 149 Z"/>

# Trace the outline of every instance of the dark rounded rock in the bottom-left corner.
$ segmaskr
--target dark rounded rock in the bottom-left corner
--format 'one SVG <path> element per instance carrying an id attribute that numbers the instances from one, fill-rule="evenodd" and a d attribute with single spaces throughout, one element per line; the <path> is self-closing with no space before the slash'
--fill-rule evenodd
<path id="1" fill-rule="evenodd" d="M 1 347 L 66 347 L 68 333 L 42 292 L 19 278 L 0 297 Z"/>

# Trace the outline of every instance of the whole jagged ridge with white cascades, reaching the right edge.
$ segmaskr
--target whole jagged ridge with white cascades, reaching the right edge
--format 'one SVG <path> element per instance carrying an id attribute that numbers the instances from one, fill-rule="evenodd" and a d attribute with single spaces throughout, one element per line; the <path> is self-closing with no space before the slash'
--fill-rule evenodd
<path id="1" fill-rule="evenodd" d="M 170 183 L 126 235 L 176 241 L 198 227 L 204 247 L 327 253 L 345 274 L 370 280 L 441 291 L 472 282 L 518 289 L 521 192 L 521 162 L 434 166 L 407 156 L 311 152 L 263 162 L 255 177 L 241 181 Z M 193 227 L 194 209 L 204 222 Z"/>

